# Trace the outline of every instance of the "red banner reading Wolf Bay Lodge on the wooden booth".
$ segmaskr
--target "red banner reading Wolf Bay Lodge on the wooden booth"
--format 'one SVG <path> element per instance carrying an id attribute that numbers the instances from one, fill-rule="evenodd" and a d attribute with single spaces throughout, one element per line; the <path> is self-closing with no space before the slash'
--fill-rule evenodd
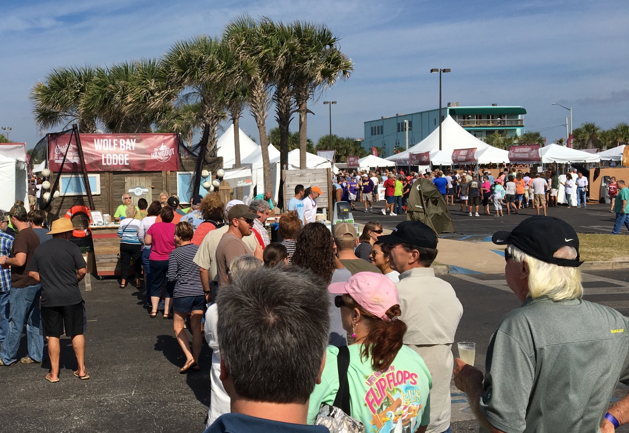
<path id="1" fill-rule="evenodd" d="M 80 134 L 87 171 L 177 171 L 177 134 Z M 48 167 L 58 171 L 80 172 L 74 135 L 58 135 L 48 140 Z"/>

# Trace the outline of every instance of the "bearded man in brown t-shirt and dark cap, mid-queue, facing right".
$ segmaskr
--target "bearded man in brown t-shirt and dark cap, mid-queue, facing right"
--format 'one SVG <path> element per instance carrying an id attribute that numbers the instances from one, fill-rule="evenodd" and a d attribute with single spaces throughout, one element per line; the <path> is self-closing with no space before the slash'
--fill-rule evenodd
<path id="1" fill-rule="evenodd" d="M 260 216 L 252 213 L 247 205 L 231 206 L 228 211 L 227 223 L 230 228 L 221 237 L 216 247 L 216 271 L 219 287 L 229 284 L 230 262 L 235 257 L 252 255 L 252 251 L 242 241 L 242 238 L 251 234 L 253 220 L 256 218 L 260 218 Z M 262 261 L 262 247 L 260 245 L 253 252 L 253 256 Z"/>

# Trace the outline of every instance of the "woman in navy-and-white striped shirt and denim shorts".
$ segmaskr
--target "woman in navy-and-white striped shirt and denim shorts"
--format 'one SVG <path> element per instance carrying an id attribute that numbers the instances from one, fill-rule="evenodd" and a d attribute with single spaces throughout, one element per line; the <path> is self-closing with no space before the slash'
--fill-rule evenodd
<path id="1" fill-rule="evenodd" d="M 201 318 L 205 312 L 205 293 L 203 285 L 199 279 L 199 266 L 194 263 L 199 245 L 192 244 L 194 230 L 192 224 L 179 222 L 175 226 L 175 245 L 168 258 L 167 279 L 172 289 L 173 298 L 173 321 L 172 329 L 179 346 L 186 355 L 186 364 L 179 370 L 179 373 L 187 373 L 191 369 L 198 371 L 197 365 L 199 354 L 201 354 L 201 344 L 203 343 L 203 332 L 201 331 Z M 190 332 L 192 332 L 192 352 L 190 352 L 190 342 L 184 323 L 187 315 L 190 315 Z"/>

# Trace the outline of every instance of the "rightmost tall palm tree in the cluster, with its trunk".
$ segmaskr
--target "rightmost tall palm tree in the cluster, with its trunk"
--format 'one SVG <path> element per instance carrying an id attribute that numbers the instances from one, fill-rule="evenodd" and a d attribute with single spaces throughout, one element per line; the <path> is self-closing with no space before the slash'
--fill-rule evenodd
<path id="1" fill-rule="evenodd" d="M 333 86 L 339 79 L 348 79 L 353 70 L 352 60 L 338 48 L 338 37 L 325 25 L 302 21 L 291 24 L 298 42 L 294 54 L 292 89 L 299 112 L 299 167 L 306 168 L 308 99 L 317 89 Z"/>

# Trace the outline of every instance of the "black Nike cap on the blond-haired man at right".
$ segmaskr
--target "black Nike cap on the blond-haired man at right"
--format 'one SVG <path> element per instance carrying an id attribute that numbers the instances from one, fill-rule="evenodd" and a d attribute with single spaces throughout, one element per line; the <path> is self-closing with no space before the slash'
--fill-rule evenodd
<path id="1" fill-rule="evenodd" d="M 378 239 L 379 240 L 379 239 Z M 579 267 L 579 237 L 572 226 L 555 217 L 530 217 L 518 224 L 511 232 L 496 232 L 491 237 L 496 245 L 511 244 L 521 252 L 542 262 L 559 266 Z M 574 247 L 577 258 L 558 259 L 554 254 L 561 247 Z"/>

